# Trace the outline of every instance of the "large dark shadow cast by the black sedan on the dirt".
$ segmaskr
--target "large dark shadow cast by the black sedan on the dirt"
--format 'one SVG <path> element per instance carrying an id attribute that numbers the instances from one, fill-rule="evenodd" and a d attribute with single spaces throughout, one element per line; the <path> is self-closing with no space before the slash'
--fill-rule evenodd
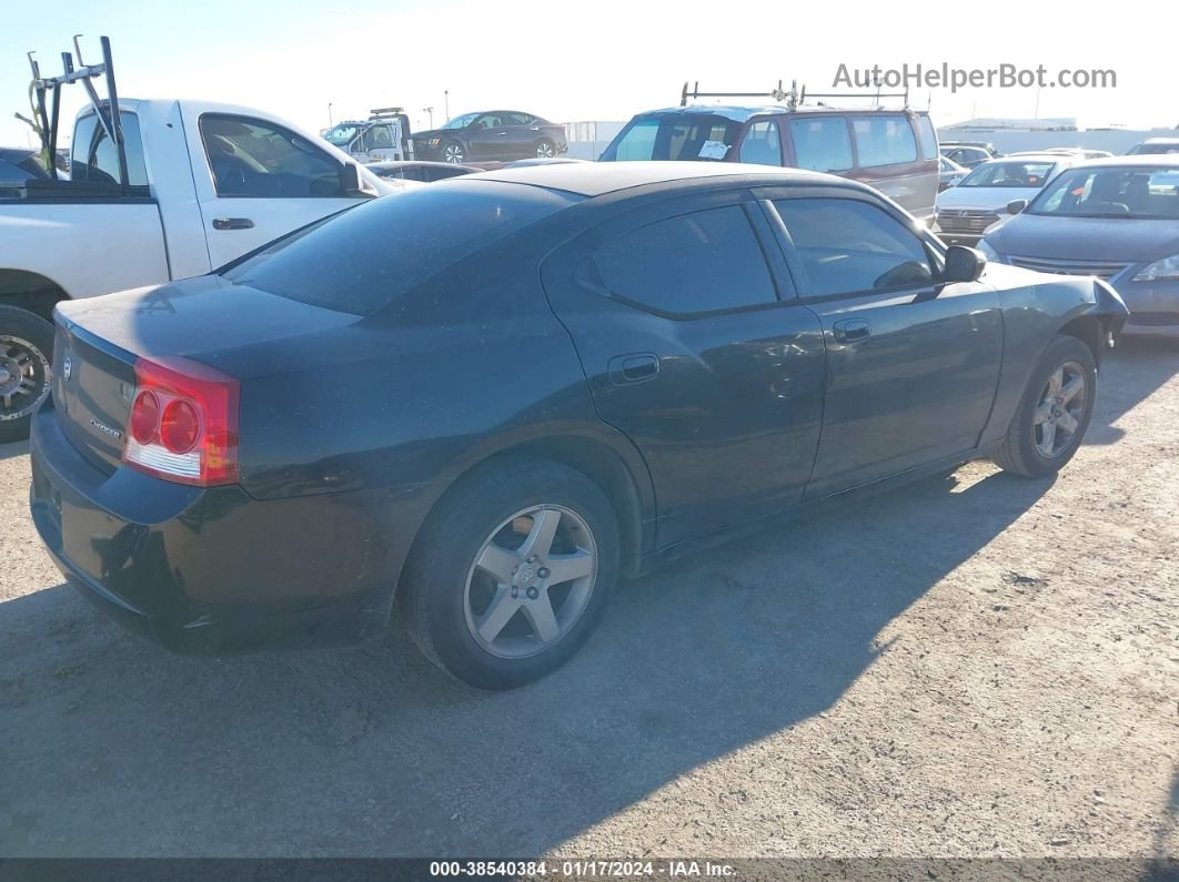
<path id="1" fill-rule="evenodd" d="M 1050 486 L 973 465 L 620 586 L 566 668 L 462 687 L 395 632 L 186 658 L 61 585 L 0 604 L 0 854 L 535 855 L 831 708 Z M 657 848 L 657 843 L 652 843 Z"/>

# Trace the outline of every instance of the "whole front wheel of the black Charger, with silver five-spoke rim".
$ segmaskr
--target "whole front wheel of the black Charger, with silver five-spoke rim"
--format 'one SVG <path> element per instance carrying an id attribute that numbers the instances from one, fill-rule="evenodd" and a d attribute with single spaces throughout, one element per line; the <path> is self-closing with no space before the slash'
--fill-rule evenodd
<path id="1" fill-rule="evenodd" d="M 1060 471 L 1081 446 L 1096 387 L 1096 362 L 1089 347 L 1075 337 L 1054 338 L 1032 371 L 995 464 L 1025 478 Z"/>

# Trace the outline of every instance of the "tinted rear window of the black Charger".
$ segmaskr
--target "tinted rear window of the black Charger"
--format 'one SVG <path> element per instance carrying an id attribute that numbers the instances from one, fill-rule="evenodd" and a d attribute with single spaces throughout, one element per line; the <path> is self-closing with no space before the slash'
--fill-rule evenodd
<path id="1" fill-rule="evenodd" d="M 456 260 L 578 201 L 495 181 L 444 181 L 374 199 L 222 271 L 230 281 L 368 316 Z"/>

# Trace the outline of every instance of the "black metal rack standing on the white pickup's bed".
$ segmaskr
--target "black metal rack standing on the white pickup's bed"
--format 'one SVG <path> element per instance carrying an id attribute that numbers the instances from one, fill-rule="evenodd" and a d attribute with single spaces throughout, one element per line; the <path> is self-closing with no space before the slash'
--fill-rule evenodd
<path id="1" fill-rule="evenodd" d="M 17 114 L 17 118 L 28 122 L 41 140 L 45 167 L 52 168 L 55 165 L 58 152 L 58 130 L 61 118 L 61 87 L 74 82 L 80 82 L 86 89 L 90 104 L 94 108 L 99 124 L 106 137 L 116 146 L 119 158 L 119 186 L 126 193 L 129 188 L 127 178 L 127 148 L 123 140 L 123 119 L 119 115 L 119 91 L 114 84 L 114 61 L 111 58 L 111 39 L 100 37 L 103 47 L 103 64 L 87 65 L 81 58 L 81 45 L 74 34 L 74 53 L 78 55 L 78 67 L 74 67 L 73 54 L 61 53 L 62 73 L 59 77 L 41 77 L 41 66 L 33 58 L 35 52 L 29 52 L 28 65 L 33 72 L 33 81 L 28 86 L 29 102 L 33 106 L 33 119 Z M 98 89 L 94 88 L 93 80 L 106 79 L 106 100 L 99 98 Z"/>

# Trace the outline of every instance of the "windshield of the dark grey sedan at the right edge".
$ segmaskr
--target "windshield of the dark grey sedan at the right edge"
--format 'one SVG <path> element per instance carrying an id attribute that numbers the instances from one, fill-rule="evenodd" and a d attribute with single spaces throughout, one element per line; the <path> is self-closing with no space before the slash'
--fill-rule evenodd
<path id="1" fill-rule="evenodd" d="M 1073 168 L 1053 180 L 1027 213 L 1179 219 L 1179 166 Z"/>

